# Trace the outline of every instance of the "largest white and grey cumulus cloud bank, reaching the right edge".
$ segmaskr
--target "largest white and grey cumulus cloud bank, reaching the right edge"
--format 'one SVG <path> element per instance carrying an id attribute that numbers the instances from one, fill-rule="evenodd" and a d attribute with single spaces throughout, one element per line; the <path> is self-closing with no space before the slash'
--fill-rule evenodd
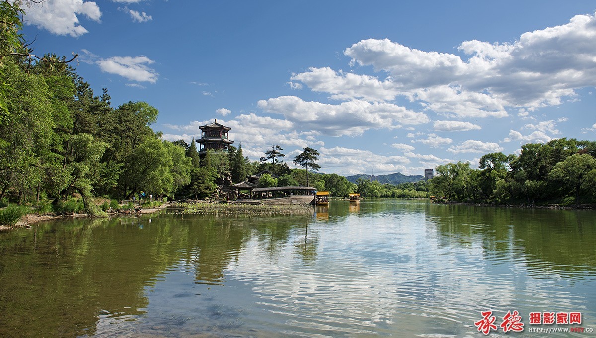
<path id="1" fill-rule="evenodd" d="M 464 41 L 464 55 L 421 51 L 389 39 L 366 39 L 344 50 L 351 65 L 372 66 L 384 79 L 309 68 L 293 81 L 331 99 L 391 101 L 403 96 L 424 108 L 456 117 L 520 117 L 575 99 L 596 86 L 596 18 L 576 15 L 569 23 L 524 33 L 514 42 Z"/>

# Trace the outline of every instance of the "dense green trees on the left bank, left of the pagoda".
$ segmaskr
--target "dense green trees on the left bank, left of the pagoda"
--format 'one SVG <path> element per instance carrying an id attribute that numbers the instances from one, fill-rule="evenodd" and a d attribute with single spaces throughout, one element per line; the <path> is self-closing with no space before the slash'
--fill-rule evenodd
<path id="1" fill-rule="evenodd" d="M 170 196 L 189 184 L 192 159 L 151 129 L 157 109 L 113 108 L 64 58 L 30 54 L 21 4 L 0 2 L 0 200 L 58 209 L 76 195 L 94 212 L 94 196 Z"/>

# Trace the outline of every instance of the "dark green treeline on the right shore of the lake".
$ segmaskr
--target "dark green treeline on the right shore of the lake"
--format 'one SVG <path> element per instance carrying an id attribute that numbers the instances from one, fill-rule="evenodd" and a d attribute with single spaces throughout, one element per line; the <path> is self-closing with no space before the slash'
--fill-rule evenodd
<path id="1" fill-rule="evenodd" d="M 448 201 L 578 205 L 596 202 L 596 142 L 555 139 L 527 143 L 519 155 L 493 152 L 468 162 L 439 165 L 430 192 Z"/>

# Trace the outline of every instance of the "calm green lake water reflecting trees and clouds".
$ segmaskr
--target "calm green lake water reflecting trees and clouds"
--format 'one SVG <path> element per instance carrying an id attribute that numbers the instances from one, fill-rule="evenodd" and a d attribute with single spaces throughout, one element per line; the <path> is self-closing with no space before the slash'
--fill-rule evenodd
<path id="1" fill-rule="evenodd" d="M 479 336 L 488 309 L 497 327 L 522 315 L 509 336 L 594 330 L 595 248 L 595 211 L 394 199 L 46 222 L 0 233 L 0 336 Z M 582 323 L 530 325 L 530 312 Z"/>

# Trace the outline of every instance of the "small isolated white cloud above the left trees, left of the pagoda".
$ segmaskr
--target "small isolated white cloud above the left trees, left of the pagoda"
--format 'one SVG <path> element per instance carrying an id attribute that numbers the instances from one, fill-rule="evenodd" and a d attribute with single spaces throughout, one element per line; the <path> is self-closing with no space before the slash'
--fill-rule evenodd
<path id="1" fill-rule="evenodd" d="M 105 73 L 116 74 L 137 82 L 157 82 L 157 72 L 147 65 L 153 64 L 150 58 L 141 57 L 111 57 L 97 61 Z"/>

